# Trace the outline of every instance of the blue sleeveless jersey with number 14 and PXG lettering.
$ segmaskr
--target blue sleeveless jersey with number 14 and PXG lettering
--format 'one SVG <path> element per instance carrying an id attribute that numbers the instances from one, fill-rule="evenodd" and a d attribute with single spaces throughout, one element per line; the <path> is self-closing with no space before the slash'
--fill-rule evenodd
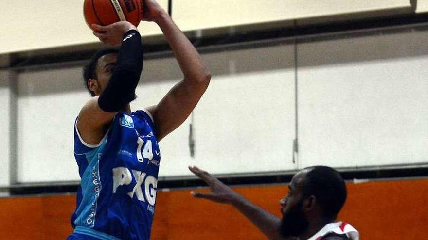
<path id="1" fill-rule="evenodd" d="M 74 124 L 74 157 L 81 183 L 71 217 L 74 233 L 102 240 L 149 240 L 160 150 L 150 113 L 119 112 L 97 145 Z"/>

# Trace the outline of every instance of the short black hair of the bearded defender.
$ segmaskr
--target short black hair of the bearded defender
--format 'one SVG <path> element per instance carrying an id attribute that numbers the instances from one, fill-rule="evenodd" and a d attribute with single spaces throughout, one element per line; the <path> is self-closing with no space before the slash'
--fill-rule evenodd
<path id="1" fill-rule="evenodd" d="M 346 201 L 346 184 L 340 173 L 331 167 L 308 167 L 304 195 L 314 195 L 321 205 L 323 215 L 336 219 Z"/>

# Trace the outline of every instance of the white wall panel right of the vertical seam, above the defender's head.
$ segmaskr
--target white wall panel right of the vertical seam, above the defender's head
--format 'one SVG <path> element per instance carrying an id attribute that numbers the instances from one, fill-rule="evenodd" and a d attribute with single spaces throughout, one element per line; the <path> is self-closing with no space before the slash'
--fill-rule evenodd
<path id="1" fill-rule="evenodd" d="M 299 45 L 299 166 L 428 161 L 426 32 Z"/>

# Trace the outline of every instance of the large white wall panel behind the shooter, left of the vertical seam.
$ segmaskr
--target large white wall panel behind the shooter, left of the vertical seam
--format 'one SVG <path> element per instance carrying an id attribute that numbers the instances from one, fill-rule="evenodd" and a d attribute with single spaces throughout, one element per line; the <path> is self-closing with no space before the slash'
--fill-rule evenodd
<path id="1" fill-rule="evenodd" d="M 160 177 L 190 175 L 189 164 L 217 174 L 295 169 L 292 56 L 290 45 L 203 54 L 213 80 L 194 112 L 195 156 L 189 118 L 160 142 Z M 181 78 L 173 58 L 145 61 L 132 109 L 157 104 Z M 18 182 L 79 180 L 72 126 L 89 99 L 81 66 L 27 71 L 17 81 Z"/>

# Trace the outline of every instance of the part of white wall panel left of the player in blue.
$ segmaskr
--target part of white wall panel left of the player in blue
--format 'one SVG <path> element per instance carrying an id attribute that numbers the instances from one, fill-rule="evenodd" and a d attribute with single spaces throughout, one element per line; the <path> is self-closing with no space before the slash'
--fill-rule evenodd
<path id="1" fill-rule="evenodd" d="M 18 182 L 78 180 L 73 124 L 89 99 L 81 67 L 18 77 Z"/>

